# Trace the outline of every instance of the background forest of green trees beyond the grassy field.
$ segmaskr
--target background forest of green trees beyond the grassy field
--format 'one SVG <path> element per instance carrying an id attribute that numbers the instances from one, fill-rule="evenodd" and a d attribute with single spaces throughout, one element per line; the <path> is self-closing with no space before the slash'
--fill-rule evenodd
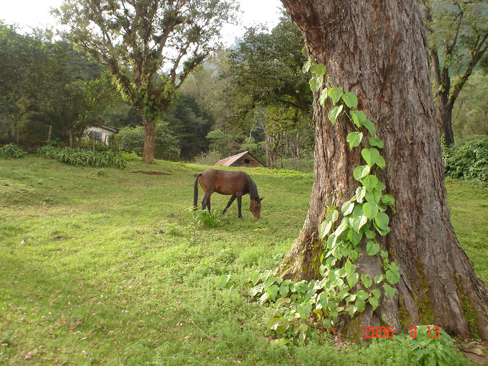
<path id="1" fill-rule="evenodd" d="M 155 157 L 211 164 L 248 150 L 269 167 L 311 171 L 312 94 L 302 72 L 303 45 L 283 16 L 271 31 L 251 28 L 234 46 L 215 50 L 157 124 Z M 110 148 L 142 154 L 141 116 L 108 71 L 83 52 L 54 41 L 49 31 L 20 34 L 0 23 L 0 58 L 0 144 L 91 147 L 84 131 L 104 125 L 118 132 Z M 488 136 L 484 66 L 473 69 L 454 103 L 457 145 Z M 452 62 L 459 74 L 456 67 Z"/>

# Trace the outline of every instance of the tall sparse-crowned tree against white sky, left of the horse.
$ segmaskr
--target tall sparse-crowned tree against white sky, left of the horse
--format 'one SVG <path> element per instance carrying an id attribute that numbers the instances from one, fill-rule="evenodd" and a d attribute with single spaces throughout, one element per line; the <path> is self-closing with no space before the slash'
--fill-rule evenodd
<path id="1" fill-rule="evenodd" d="M 156 121 L 174 90 L 216 46 L 233 0 L 65 0 L 65 39 L 106 65 L 144 122 L 142 161 L 154 163 Z M 164 74 L 162 73 L 164 72 Z"/>

